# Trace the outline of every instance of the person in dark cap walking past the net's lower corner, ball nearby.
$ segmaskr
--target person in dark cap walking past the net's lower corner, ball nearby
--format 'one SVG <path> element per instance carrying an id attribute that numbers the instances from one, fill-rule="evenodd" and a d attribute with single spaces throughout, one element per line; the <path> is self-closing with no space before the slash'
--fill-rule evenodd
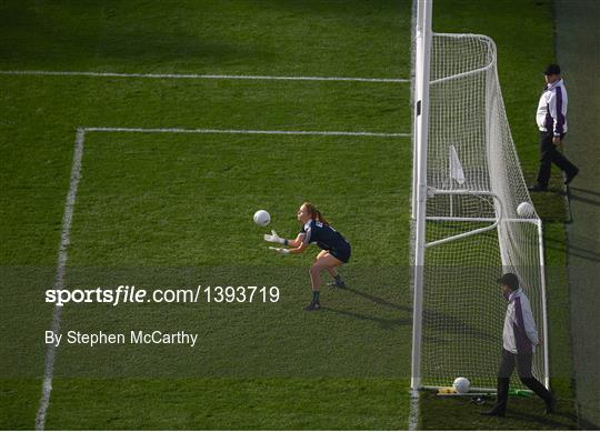
<path id="1" fill-rule="evenodd" d="M 529 299 L 519 288 L 516 274 L 506 273 L 497 282 L 502 285 L 502 294 L 508 300 L 502 331 L 502 360 L 498 371 L 498 399 L 490 411 L 481 414 L 504 416 L 510 375 L 514 371 L 514 365 L 521 382 L 546 402 L 546 413 L 550 414 L 554 411 L 556 400 L 531 373 L 533 349 L 540 344 L 540 340 Z"/>

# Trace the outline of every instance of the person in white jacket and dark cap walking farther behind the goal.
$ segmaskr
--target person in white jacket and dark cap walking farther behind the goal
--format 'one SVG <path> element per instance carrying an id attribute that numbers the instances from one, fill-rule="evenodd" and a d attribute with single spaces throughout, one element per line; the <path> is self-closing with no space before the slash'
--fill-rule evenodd
<path id="1" fill-rule="evenodd" d="M 579 169 L 557 149 L 567 133 L 568 98 L 560 67 L 549 64 L 543 73 L 547 86 L 540 97 L 536 114 L 540 130 L 540 168 L 537 183 L 529 187 L 532 192 L 548 190 L 552 163 L 564 172 L 564 184 L 569 184 L 579 172 Z"/>

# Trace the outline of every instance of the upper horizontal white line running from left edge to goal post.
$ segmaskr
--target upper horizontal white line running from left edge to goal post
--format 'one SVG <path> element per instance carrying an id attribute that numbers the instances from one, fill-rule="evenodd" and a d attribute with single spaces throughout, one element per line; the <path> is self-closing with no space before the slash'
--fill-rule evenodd
<path id="1" fill-rule="evenodd" d="M 270 80 L 270 81 L 350 81 L 350 82 L 410 82 L 404 78 L 360 78 L 360 77 L 278 77 L 278 76 L 219 76 L 200 73 L 119 73 L 49 70 L 2 70 L 3 76 L 51 76 L 51 77 L 113 77 L 113 78 L 169 78 L 204 80 Z"/>

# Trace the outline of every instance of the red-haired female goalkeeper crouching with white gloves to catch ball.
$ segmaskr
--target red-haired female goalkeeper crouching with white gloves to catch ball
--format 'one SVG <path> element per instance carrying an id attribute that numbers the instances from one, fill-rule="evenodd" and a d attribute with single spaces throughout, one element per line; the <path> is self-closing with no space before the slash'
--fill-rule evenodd
<path id="1" fill-rule="evenodd" d="M 264 240 L 272 243 L 281 243 L 290 245 L 287 248 L 269 248 L 279 253 L 301 253 L 310 243 L 317 243 L 322 249 L 317 255 L 314 263 L 310 267 L 310 282 L 312 284 L 312 300 L 304 308 L 306 311 L 316 311 L 321 308 L 319 294 L 321 292 L 321 272 L 327 270 L 334 279 L 332 283 L 337 288 L 346 288 L 341 277 L 338 274 L 337 268 L 347 263 L 350 260 L 350 243 L 336 231 L 321 215 L 321 212 L 310 202 L 304 202 L 300 205 L 297 213 L 298 221 L 302 224 L 300 233 L 296 240 L 286 240 L 277 235 L 277 232 L 271 231 L 271 234 L 266 234 Z"/>

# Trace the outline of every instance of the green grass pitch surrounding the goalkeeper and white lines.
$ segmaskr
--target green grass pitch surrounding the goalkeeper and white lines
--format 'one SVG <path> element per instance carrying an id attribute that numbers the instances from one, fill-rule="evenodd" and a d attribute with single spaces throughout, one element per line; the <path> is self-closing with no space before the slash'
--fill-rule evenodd
<path id="1" fill-rule="evenodd" d="M 523 23 L 526 22 L 527 26 Z M 526 174 L 549 1 L 452 0 L 434 30 L 494 38 Z M 410 78 L 411 2 L 36 2 L 0 6 L 0 69 Z M 523 47 L 521 40 L 531 43 Z M 0 74 L 0 428 L 31 429 L 77 128 L 407 132 L 410 84 Z M 402 137 L 87 132 L 67 285 L 274 284 L 274 304 L 69 305 L 63 330 L 200 333 L 201 349 L 60 346 L 48 429 L 404 429 L 409 416 L 411 141 Z M 317 253 L 270 253 L 314 202 L 352 243 L 350 290 L 304 314 Z M 562 202 L 539 203 L 561 220 Z M 271 227 L 269 227 L 271 228 Z M 563 232 L 547 225 L 553 388 L 570 412 Z M 324 277 L 327 280 L 328 277 Z M 123 281 L 126 279 L 126 281 Z M 133 324 L 132 324 L 133 323 Z M 457 406 L 423 398 L 422 428 Z M 452 401 L 453 403 L 454 401 Z M 537 410 L 530 403 L 523 410 Z M 470 406 L 456 428 L 487 429 Z M 492 428 L 566 428 L 509 419 Z M 508 426 L 507 426 L 508 424 Z"/>

